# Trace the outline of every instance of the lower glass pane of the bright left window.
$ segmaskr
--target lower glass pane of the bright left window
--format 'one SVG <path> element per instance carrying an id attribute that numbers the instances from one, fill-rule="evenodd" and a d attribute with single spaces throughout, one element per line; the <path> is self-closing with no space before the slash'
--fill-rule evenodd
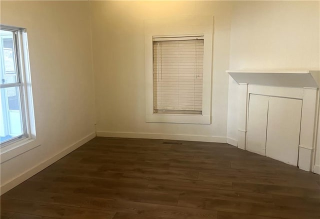
<path id="1" fill-rule="evenodd" d="M 1 88 L 0 143 L 23 134 L 20 87 Z"/>

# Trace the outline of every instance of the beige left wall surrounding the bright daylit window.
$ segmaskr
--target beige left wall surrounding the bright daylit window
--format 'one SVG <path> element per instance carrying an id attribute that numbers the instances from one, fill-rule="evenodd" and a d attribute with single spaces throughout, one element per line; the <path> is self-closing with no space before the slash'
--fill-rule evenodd
<path id="1" fill-rule="evenodd" d="M 1 24 L 27 29 L 36 141 L 41 144 L 1 163 L 3 189 L 20 174 L 28 170 L 31 174 L 33 167 L 94 134 L 94 88 L 87 1 L 0 3 Z M 44 164 L 35 169 L 41 167 Z"/>

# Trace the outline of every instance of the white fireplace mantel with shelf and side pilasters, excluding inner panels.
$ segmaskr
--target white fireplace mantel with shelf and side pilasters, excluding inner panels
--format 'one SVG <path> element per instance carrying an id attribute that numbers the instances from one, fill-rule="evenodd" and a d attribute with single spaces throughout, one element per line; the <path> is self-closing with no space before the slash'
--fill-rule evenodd
<path id="1" fill-rule="evenodd" d="M 310 70 L 227 70 L 239 84 L 237 146 L 246 149 L 249 95 L 262 94 L 302 99 L 298 167 L 312 171 L 318 82 L 320 71 Z"/>

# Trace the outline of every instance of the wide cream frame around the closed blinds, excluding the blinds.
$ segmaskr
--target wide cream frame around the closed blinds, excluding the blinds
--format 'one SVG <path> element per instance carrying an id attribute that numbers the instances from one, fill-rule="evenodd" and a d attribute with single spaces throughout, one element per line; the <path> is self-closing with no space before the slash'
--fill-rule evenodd
<path id="1" fill-rule="evenodd" d="M 153 37 L 203 35 L 202 114 L 160 114 L 153 112 Z M 187 16 L 145 20 L 145 121 L 167 123 L 211 123 L 212 16 Z"/>

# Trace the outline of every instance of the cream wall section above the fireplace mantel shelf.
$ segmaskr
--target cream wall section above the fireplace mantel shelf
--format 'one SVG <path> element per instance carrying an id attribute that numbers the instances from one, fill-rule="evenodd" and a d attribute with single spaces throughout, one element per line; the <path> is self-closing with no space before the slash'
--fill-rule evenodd
<path id="1" fill-rule="evenodd" d="M 319 1 L 239 1 L 231 69 L 319 69 Z"/>

